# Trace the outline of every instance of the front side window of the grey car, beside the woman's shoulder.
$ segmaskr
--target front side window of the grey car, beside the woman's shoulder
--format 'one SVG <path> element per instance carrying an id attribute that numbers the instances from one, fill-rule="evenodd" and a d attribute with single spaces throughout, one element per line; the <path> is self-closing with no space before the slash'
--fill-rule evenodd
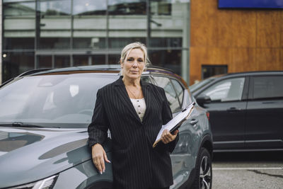
<path id="1" fill-rule="evenodd" d="M 178 101 L 178 98 L 176 96 L 175 90 L 173 88 L 173 85 L 171 84 L 170 79 L 163 76 L 154 76 L 154 79 L 158 86 L 164 88 L 172 113 L 175 113 L 178 110 L 180 110 L 180 103 Z"/>

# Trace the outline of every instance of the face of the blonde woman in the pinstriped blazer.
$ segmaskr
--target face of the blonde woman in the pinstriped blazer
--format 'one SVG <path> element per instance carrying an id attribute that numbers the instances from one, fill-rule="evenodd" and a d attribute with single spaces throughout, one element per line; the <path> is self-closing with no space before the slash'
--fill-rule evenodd
<path id="1" fill-rule="evenodd" d="M 125 78 L 138 79 L 141 77 L 145 65 L 144 52 L 141 49 L 133 49 L 121 63 L 121 68 Z"/>

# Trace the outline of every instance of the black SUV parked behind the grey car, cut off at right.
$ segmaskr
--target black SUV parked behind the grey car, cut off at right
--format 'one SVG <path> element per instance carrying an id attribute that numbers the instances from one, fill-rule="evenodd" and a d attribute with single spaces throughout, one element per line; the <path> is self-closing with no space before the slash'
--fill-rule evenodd
<path id="1" fill-rule="evenodd" d="M 192 94 L 209 110 L 214 151 L 283 150 L 283 71 L 226 74 L 207 83 Z"/>

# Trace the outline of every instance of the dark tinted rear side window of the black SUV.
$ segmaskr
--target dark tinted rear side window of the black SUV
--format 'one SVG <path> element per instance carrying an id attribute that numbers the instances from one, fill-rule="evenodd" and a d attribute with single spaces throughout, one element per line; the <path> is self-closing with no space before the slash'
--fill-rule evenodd
<path id="1" fill-rule="evenodd" d="M 255 76 L 253 78 L 253 98 L 283 97 L 283 76 Z"/>

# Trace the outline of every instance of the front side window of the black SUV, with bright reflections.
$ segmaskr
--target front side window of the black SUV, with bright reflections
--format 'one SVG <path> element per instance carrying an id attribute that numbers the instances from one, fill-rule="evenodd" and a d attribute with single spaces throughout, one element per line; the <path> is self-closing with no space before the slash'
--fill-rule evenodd
<path id="1" fill-rule="evenodd" d="M 209 96 L 212 101 L 240 101 L 243 93 L 245 78 L 233 78 L 219 81 L 201 93 Z"/>

